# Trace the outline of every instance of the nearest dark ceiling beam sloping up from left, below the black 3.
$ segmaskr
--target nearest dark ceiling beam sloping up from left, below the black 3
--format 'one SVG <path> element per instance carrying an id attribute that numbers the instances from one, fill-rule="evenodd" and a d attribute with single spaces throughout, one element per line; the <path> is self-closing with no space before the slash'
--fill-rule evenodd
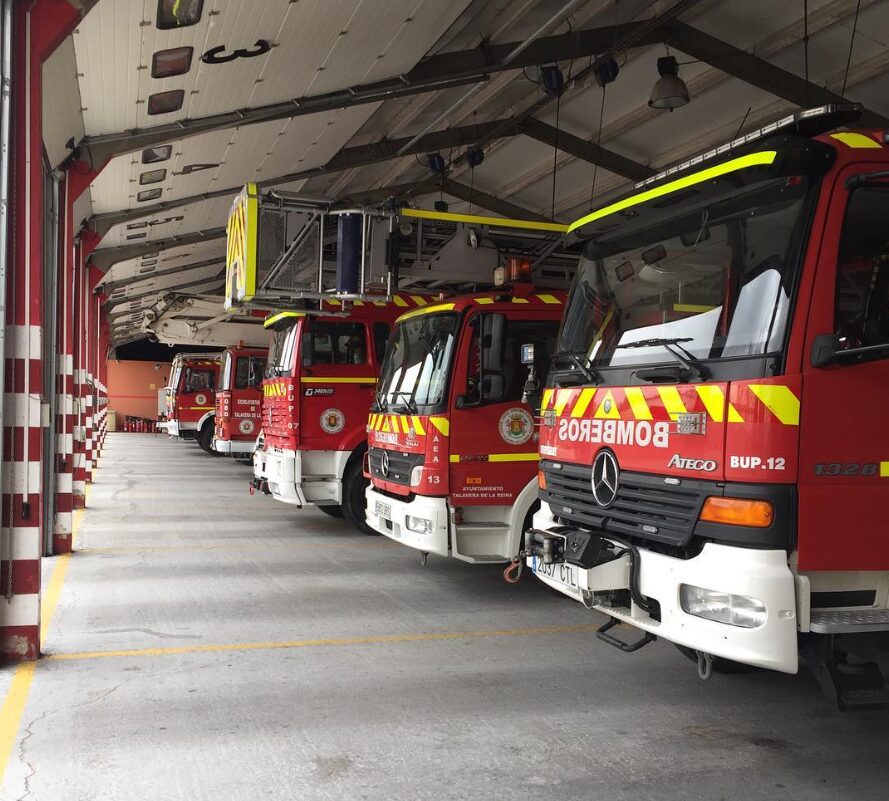
<path id="1" fill-rule="evenodd" d="M 89 151 L 94 164 L 103 164 L 107 159 L 122 153 L 175 142 L 209 131 L 435 92 L 453 86 L 480 83 L 504 69 L 521 69 L 554 61 L 594 56 L 606 49 L 616 38 L 627 36 L 637 29 L 641 30 L 643 24 L 631 22 L 541 37 L 513 58 L 508 65 L 504 65 L 503 60 L 520 45 L 519 42 L 499 45 L 483 43 L 470 50 L 430 56 L 420 61 L 410 72 L 383 81 L 359 84 L 322 95 L 293 98 L 267 106 L 179 120 L 150 128 L 87 136 L 79 142 L 79 145 Z M 646 30 L 645 35 L 640 36 L 635 44 L 638 46 L 654 44 L 661 39 L 656 29 Z"/>

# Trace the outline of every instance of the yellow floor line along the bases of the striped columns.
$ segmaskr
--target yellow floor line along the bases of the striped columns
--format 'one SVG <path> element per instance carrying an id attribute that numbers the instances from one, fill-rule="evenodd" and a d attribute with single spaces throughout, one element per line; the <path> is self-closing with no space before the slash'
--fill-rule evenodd
<path id="1" fill-rule="evenodd" d="M 86 488 L 86 497 L 89 494 L 89 487 Z M 77 541 L 77 535 L 80 533 L 80 526 L 83 522 L 83 509 L 75 509 L 71 517 L 71 544 Z M 40 604 L 40 647 L 43 648 L 46 634 L 52 623 L 56 606 L 59 602 L 59 595 L 62 592 L 62 584 L 65 582 L 65 576 L 68 573 L 68 563 L 71 561 L 71 554 L 61 554 L 53 568 L 49 583 L 43 592 Z M 0 708 L 0 784 L 3 783 L 3 777 L 6 774 L 6 766 L 9 763 L 9 757 L 16 745 L 19 728 L 21 727 L 22 716 L 25 714 L 25 707 L 28 705 L 28 696 L 31 693 L 31 682 L 34 680 L 34 671 L 37 669 L 36 662 L 22 662 L 19 664 L 15 672 L 12 674 L 12 682 L 6 693 L 6 699 L 3 701 L 3 707 Z"/>

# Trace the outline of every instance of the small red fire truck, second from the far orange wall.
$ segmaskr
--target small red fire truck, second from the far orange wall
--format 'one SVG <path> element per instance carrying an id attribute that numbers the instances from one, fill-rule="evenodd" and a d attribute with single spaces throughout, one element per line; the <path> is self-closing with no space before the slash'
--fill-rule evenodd
<path id="1" fill-rule="evenodd" d="M 213 450 L 235 458 L 252 457 L 262 425 L 264 348 L 245 348 L 243 343 L 222 353 Z"/>

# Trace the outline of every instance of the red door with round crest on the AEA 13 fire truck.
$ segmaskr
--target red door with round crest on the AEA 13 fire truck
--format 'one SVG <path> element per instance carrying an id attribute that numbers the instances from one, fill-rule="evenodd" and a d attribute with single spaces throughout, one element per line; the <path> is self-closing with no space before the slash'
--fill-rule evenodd
<path id="1" fill-rule="evenodd" d="M 452 387 L 450 488 L 457 506 L 510 506 L 536 475 L 537 431 L 522 403 L 523 343 L 535 345 L 538 375 L 552 353 L 558 321 L 477 312 L 464 329 Z"/>

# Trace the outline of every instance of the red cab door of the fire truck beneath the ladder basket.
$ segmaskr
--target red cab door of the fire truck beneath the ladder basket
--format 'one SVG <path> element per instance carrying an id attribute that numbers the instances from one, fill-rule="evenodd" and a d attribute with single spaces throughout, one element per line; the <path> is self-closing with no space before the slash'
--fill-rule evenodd
<path id="1" fill-rule="evenodd" d="M 309 321 L 297 356 L 306 450 L 351 450 L 364 439 L 377 381 L 370 341 L 363 321 Z"/>

